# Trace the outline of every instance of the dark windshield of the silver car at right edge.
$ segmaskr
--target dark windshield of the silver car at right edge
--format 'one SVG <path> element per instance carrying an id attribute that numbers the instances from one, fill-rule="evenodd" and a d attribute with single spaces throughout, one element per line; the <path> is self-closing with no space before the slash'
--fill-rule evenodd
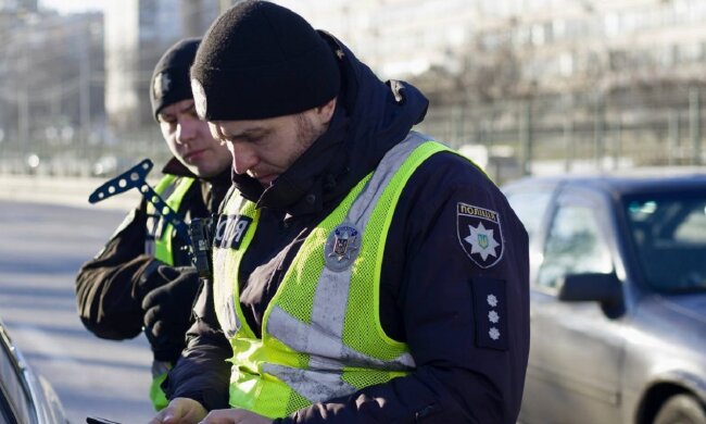
<path id="1" fill-rule="evenodd" d="M 706 290 L 706 194 L 625 199 L 647 284 L 663 292 Z"/>

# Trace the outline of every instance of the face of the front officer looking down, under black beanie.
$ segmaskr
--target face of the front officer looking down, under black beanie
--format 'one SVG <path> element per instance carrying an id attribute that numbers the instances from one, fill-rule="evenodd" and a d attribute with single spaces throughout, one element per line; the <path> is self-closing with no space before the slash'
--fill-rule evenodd
<path id="1" fill-rule="evenodd" d="M 209 126 L 214 137 L 225 141 L 230 150 L 234 171 L 269 187 L 328 128 L 335 105 L 336 100 L 331 100 L 322 108 L 294 115 L 216 121 Z"/>

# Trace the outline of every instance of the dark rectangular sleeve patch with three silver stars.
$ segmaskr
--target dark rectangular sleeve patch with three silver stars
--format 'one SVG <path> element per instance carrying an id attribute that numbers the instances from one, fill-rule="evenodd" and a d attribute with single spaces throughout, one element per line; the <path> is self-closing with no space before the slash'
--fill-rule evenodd
<path id="1" fill-rule="evenodd" d="M 505 280 L 471 278 L 476 346 L 507 350 L 507 297 Z"/>

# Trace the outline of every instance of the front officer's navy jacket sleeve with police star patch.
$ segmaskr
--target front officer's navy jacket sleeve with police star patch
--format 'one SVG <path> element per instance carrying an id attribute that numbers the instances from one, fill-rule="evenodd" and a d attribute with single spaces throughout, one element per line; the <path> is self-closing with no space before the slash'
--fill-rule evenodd
<path id="1" fill-rule="evenodd" d="M 401 282 L 393 303 L 416 369 L 279 422 L 516 422 L 529 352 L 527 233 L 480 172 L 430 162 L 398 204 L 382 271 Z"/>

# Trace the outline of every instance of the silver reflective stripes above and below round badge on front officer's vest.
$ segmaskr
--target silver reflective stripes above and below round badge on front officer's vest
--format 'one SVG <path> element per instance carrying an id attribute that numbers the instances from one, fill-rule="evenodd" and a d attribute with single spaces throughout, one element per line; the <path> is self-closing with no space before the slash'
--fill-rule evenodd
<path id="1" fill-rule="evenodd" d="M 382 158 L 373 177 L 355 199 L 345 222 L 364 232 L 382 191 L 396 171 L 418 146 L 429 140 L 417 133 L 392 148 Z M 362 235 L 361 235 L 362 237 Z M 333 272 L 324 267 L 318 279 L 312 310 L 312 324 L 291 316 L 275 305 L 267 320 L 267 331 L 294 351 L 310 354 L 310 369 L 298 370 L 279 365 L 264 365 L 266 372 L 280 378 L 312 402 L 344 396 L 356 390 L 340 377 L 343 366 L 361 366 L 384 371 L 405 371 L 415 366 L 409 353 L 382 361 L 354 351 L 342 341 L 351 267 Z"/>

